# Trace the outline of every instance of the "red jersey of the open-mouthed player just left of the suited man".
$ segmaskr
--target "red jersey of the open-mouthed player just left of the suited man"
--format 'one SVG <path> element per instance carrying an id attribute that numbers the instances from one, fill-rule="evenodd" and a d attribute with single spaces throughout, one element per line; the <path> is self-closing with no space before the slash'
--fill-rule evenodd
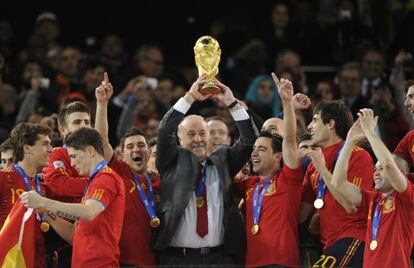
<path id="1" fill-rule="evenodd" d="M 120 263 L 136 266 L 155 265 L 155 255 L 150 247 L 151 232 L 150 218 L 142 203 L 131 169 L 123 162 L 112 159 L 109 166 L 121 176 L 125 184 L 125 218 L 122 227 Z M 148 195 L 147 180 L 137 176 L 141 188 Z M 154 192 L 159 192 L 159 178 L 151 178 Z"/>

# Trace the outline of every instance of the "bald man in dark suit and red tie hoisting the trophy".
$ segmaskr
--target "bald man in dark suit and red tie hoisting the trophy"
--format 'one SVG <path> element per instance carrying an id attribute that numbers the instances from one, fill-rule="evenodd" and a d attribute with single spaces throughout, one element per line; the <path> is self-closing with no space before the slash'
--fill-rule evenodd
<path id="1" fill-rule="evenodd" d="M 197 79 L 160 124 L 156 164 L 163 189 L 161 225 L 153 241 L 160 265 L 231 265 L 231 254 L 245 249 L 246 234 L 229 186 L 249 159 L 258 133 L 230 88 L 215 80 L 222 90 L 215 98 L 229 108 L 240 139 L 209 154 L 206 121 L 198 115 L 185 117 L 194 101 L 211 97 L 199 92 L 206 82 L 205 76 Z M 171 135 L 176 130 L 179 145 Z"/>

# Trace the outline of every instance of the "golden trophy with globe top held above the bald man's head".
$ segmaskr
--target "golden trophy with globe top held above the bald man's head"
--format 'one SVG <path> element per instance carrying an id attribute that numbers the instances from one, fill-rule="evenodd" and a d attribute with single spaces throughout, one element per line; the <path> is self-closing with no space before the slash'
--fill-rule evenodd
<path id="1" fill-rule="evenodd" d="M 217 40 L 208 35 L 200 37 L 194 45 L 194 56 L 198 75 L 207 74 L 208 79 L 208 82 L 200 88 L 200 93 L 203 95 L 221 93 L 222 89 L 214 83 L 221 56 Z"/>

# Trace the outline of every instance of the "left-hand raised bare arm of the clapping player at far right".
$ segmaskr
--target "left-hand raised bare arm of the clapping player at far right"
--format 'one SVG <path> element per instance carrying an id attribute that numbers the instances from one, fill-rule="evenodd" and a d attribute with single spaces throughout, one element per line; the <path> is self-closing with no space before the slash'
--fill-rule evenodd
<path id="1" fill-rule="evenodd" d="M 347 180 L 349 160 L 351 159 L 352 150 L 355 144 L 364 138 L 364 134 L 359 125 L 359 120 L 348 131 L 345 144 L 342 148 L 342 152 L 338 157 L 335 165 L 334 172 L 332 174 L 332 187 L 334 191 L 339 194 L 347 201 L 347 203 L 341 203 L 345 210 L 352 212 L 361 203 L 361 190 L 353 183 Z"/>

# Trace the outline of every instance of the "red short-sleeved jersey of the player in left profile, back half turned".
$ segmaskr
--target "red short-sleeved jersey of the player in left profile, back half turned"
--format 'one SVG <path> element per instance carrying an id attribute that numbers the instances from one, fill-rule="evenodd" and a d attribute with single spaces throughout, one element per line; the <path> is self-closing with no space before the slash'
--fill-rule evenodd
<path id="1" fill-rule="evenodd" d="M 99 171 L 83 202 L 93 199 L 104 206 L 92 221 L 76 222 L 72 267 L 118 267 L 119 240 L 125 212 L 124 183 L 111 168 Z"/>

